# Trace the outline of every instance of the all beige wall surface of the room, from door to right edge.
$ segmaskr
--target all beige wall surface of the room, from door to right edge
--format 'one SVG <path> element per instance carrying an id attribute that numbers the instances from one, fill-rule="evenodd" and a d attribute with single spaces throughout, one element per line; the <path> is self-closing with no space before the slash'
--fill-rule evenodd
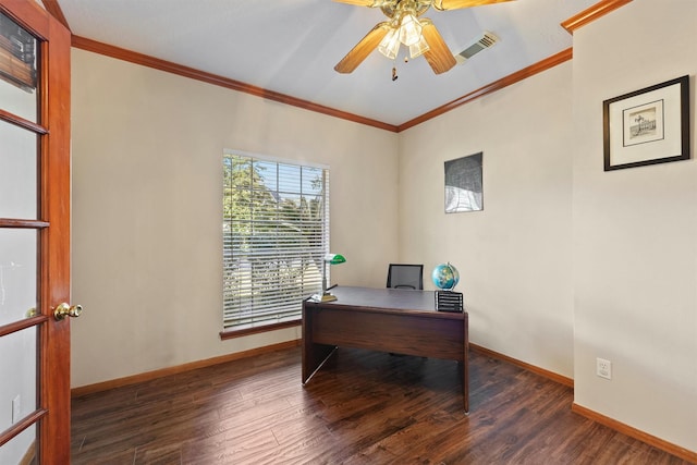
<path id="1" fill-rule="evenodd" d="M 695 161 L 602 171 L 603 99 L 694 88 L 696 9 L 634 0 L 575 33 L 573 62 L 399 135 L 74 50 L 73 386 L 299 336 L 218 338 L 220 155 L 236 148 L 330 166 L 334 281 L 382 286 L 399 259 L 433 289 L 450 260 L 474 343 L 697 450 Z M 445 215 L 443 162 L 478 151 L 485 210 Z"/>

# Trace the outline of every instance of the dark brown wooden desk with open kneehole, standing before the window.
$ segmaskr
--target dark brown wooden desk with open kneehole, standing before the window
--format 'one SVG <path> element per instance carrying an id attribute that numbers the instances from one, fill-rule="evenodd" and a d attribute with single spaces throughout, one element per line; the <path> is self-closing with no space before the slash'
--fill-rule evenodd
<path id="1" fill-rule="evenodd" d="M 334 302 L 303 303 L 303 384 L 337 346 L 462 363 L 469 412 L 467 313 L 436 311 L 432 291 L 335 286 Z"/>

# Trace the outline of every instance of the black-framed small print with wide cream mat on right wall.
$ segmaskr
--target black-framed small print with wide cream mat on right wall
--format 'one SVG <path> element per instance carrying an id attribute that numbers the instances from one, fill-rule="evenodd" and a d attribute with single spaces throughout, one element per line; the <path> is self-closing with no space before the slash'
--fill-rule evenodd
<path id="1" fill-rule="evenodd" d="M 689 76 L 602 102 L 604 171 L 689 159 Z"/>

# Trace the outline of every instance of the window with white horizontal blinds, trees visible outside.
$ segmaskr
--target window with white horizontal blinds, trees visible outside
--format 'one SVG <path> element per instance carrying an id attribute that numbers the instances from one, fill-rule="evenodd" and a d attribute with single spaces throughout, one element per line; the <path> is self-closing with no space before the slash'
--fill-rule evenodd
<path id="1" fill-rule="evenodd" d="M 321 291 L 329 170 L 223 155 L 223 331 L 296 325 Z"/>

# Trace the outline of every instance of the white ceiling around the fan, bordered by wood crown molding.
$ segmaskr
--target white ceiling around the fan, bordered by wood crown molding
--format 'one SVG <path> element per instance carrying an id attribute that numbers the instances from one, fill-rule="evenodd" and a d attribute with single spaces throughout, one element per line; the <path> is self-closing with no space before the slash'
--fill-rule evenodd
<path id="1" fill-rule="evenodd" d="M 59 0 L 74 35 L 399 125 L 572 46 L 561 23 L 598 0 L 516 0 L 430 9 L 453 53 L 482 32 L 500 41 L 436 75 L 426 60 L 377 50 L 352 74 L 334 64 L 375 24 L 379 9 L 331 0 Z M 404 48 L 403 48 L 404 52 Z M 401 53 L 403 57 L 404 53 Z"/>

